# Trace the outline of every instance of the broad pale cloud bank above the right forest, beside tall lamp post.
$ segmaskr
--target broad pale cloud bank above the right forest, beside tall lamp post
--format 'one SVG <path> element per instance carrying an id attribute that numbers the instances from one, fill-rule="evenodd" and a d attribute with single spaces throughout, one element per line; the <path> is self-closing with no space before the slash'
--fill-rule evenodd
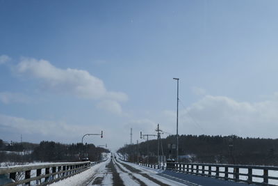
<path id="1" fill-rule="evenodd" d="M 237 102 L 224 96 L 206 95 L 180 111 L 180 134 L 236 134 L 242 137 L 277 138 L 278 99 Z M 175 123 L 175 111 L 164 112 Z"/>

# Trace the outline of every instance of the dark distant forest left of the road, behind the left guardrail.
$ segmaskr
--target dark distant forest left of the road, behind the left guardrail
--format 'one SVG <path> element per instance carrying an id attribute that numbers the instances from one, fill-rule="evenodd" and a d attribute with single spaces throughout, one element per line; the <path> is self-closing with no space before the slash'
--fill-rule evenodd
<path id="1" fill-rule="evenodd" d="M 101 159 L 105 148 L 93 144 L 60 144 L 54 141 L 42 141 L 40 144 L 5 143 L 0 139 L 0 162 L 76 162 L 88 152 L 91 161 Z"/>

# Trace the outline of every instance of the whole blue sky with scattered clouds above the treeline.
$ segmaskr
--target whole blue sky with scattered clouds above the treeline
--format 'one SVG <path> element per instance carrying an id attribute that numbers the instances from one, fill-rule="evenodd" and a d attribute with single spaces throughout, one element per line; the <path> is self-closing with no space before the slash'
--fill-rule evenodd
<path id="1" fill-rule="evenodd" d="M 278 1 L 0 0 L 0 139 L 277 138 Z"/>

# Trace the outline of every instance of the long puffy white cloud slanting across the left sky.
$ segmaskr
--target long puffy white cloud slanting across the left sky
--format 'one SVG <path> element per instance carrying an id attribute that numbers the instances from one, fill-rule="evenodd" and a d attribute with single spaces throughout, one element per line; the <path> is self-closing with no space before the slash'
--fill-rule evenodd
<path id="1" fill-rule="evenodd" d="M 88 71 L 72 68 L 61 69 L 45 60 L 23 58 L 16 66 L 16 72 L 40 79 L 44 88 L 58 93 L 72 93 L 79 98 L 100 100 L 99 107 L 108 111 L 121 112 L 118 102 L 128 100 L 125 93 L 107 91 L 101 79 L 90 75 Z M 106 100 L 113 102 L 110 107 Z M 104 105 L 106 104 L 106 105 Z"/>

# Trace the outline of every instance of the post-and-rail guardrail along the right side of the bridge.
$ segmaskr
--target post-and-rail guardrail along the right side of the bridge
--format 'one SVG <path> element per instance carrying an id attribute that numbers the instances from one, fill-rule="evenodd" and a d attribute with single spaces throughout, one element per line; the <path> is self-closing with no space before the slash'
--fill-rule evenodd
<path id="1" fill-rule="evenodd" d="M 256 185 L 278 185 L 277 166 L 167 162 L 166 169 Z"/>

